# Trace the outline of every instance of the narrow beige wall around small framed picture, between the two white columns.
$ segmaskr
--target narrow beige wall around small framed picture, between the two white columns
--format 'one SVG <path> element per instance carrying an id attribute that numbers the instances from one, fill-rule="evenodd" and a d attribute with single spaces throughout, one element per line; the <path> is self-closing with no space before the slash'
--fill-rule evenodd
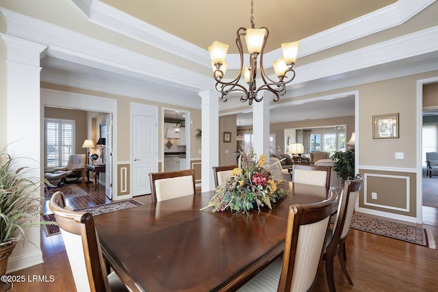
<path id="1" fill-rule="evenodd" d="M 233 165 L 236 161 L 235 151 L 237 149 L 236 116 L 222 116 L 219 118 L 219 165 Z M 224 132 L 231 133 L 231 142 L 224 142 Z M 227 153 L 228 152 L 228 153 Z"/>

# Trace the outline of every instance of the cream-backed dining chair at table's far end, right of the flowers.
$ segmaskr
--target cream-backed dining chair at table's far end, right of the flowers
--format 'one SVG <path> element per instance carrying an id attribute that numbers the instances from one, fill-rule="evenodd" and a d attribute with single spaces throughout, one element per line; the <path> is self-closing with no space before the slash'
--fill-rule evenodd
<path id="1" fill-rule="evenodd" d="M 305 183 L 307 185 L 325 186 L 329 189 L 330 174 L 330 166 L 294 164 L 292 181 L 294 183 Z"/>

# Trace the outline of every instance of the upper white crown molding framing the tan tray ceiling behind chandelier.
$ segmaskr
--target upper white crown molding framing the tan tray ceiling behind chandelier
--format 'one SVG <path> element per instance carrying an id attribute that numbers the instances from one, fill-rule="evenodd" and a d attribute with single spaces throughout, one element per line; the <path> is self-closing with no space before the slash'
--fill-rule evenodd
<path id="1" fill-rule="evenodd" d="M 150 44 L 169 53 L 179 55 L 208 68 L 211 66 L 207 49 L 197 47 L 186 40 L 169 34 L 149 23 L 140 21 L 138 18 L 117 10 L 99 0 L 73 0 L 73 2 L 79 10 L 82 10 L 88 16 L 88 20 L 92 23 L 117 31 L 120 34 Z M 339 44 L 351 42 L 352 40 L 375 34 L 378 31 L 401 25 L 433 2 L 435 0 L 398 0 L 387 7 L 342 23 L 331 29 L 326 29 L 300 40 L 298 57 L 318 53 L 336 47 Z M 266 68 L 272 67 L 272 63 L 281 54 L 281 49 L 265 53 L 264 63 Z M 240 68 L 240 55 L 230 54 L 227 56 L 227 60 L 229 69 Z"/>

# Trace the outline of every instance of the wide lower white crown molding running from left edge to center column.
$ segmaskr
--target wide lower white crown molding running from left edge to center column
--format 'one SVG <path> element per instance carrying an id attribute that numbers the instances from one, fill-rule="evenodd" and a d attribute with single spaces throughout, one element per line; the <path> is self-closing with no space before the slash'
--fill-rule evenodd
<path id="1" fill-rule="evenodd" d="M 0 7 L 9 36 L 46 45 L 47 56 L 175 87 L 207 90 L 211 78 Z M 172 72 L 172 76 L 169 75 Z"/>

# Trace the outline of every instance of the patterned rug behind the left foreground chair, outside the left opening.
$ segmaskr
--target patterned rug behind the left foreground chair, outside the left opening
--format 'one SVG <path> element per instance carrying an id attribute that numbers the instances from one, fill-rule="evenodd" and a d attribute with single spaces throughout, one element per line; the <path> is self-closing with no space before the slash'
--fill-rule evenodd
<path id="1" fill-rule="evenodd" d="M 93 216 L 102 214 L 102 213 L 108 213 L 108 212 L 114 212 L 118 210 L 128 209 L 136 206 L 140 206 L 143 203 L 138 202 L 137 200 L 127 200 L 123 202 L 115 202 L 111 204 L 101 204 L 94 207 L 87 207 L 82 209 L 76 209 L 77 212 L 88 212 L 92 213 Z M 47 222 L 55 222 L 55 215 L 48 214 L 48 215 L 42 215 L 42 220 Z M 44 233 L 46 236 L 51 235 L 57 235 L 60 233 L 60 228 L 56 225 L 42 225 L 42 228 L 44 229 Z"/>

